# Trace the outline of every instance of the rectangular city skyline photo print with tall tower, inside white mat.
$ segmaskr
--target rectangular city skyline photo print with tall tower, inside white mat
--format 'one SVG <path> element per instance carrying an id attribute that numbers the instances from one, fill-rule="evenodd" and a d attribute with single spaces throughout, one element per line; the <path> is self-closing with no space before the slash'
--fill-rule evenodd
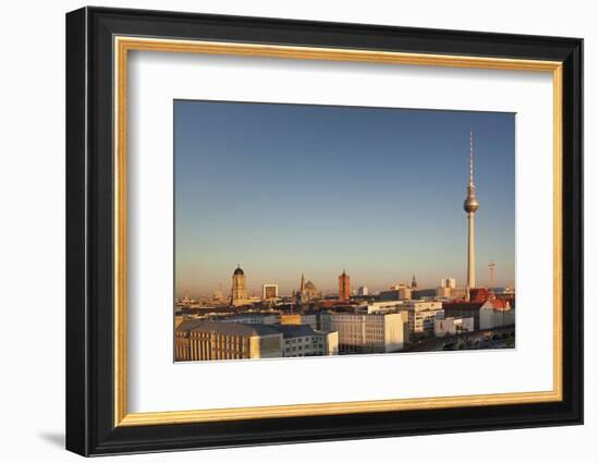
<path id="1" fill-rule="evenodd" d="M 515 114 L 174 101 L 174 361 L 515 348 Z"/>

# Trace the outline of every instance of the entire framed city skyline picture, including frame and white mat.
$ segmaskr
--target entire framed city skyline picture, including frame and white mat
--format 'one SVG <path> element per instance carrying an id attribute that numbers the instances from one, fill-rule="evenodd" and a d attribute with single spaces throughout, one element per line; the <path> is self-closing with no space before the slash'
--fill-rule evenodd
<path id="1" fill-rule="evenodd" d="M 66 448 L 583 423 L 583 40 L 66 15 Z"/>

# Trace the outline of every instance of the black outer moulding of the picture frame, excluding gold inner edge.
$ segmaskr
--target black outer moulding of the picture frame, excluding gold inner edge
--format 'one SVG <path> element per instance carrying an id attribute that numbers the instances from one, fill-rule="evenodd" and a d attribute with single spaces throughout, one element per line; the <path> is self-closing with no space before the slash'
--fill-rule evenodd
<path id="1" fill-rule="evenodd" d="M 113 426 L 113 35 L 563 62 L 563 401 Z M 583 40 L 84 8 L 66 14 L 66 449 L 82 455 L 583 423 Z"/>

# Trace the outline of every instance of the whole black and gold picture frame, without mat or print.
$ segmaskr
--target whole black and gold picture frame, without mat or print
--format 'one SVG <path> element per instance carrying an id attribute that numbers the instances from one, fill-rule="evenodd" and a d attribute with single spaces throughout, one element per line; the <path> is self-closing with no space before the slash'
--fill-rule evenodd
<path id="1" fill-rule="evenodd" d="M 133 50 L 550 73 L 554 222 L 541 232 L 553 235 L 553 389 L 130 413 Z M 68 450 L 101 455 L 583 423 L 582 39 L 83 8 L 66 14 L 66 127 Z"/>

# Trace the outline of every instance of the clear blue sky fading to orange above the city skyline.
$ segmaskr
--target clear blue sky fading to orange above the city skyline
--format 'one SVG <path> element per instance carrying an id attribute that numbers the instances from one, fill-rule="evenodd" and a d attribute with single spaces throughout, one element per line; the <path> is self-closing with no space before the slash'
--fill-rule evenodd
<path id="1" fill-rule="evenodd" d="M 464 284 L 469 131 L 477 284 L 514 283 L 515 114 L 174 101 L 175 292 Z"/>

